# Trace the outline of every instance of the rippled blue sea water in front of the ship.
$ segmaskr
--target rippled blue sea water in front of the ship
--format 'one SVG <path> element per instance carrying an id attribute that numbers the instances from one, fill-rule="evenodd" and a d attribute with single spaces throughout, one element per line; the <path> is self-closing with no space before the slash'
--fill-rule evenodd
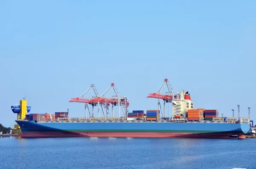
<path id="1" fill-rule="evenodd" d="M 1 169 L 255 169 L 256 139 L 0 137 Z"/>

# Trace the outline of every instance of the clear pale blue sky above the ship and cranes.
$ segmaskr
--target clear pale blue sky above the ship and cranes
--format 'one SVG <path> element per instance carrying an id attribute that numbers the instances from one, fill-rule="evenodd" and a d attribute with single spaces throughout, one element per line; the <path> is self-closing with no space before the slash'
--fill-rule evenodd
<path id="1" fill-rule="evenodd" d="M 189 91 L 195 108 L 232 116 L 240 104 L 241 116 L 250 106 L 256 120 L 255 6 L 238 0 L 3 0 L 0 123 L 13 123 L 11 106 L 25 94 L 31 113 L 69 108 L 71 117 L 83 117 L 84 104 L 68 101 L 91 83 L 99 94 L 115 83 L 130 101 L 129 112 L 157 109 L 157 99 L 146 97 L 164 78 L 174 92 Z"/>

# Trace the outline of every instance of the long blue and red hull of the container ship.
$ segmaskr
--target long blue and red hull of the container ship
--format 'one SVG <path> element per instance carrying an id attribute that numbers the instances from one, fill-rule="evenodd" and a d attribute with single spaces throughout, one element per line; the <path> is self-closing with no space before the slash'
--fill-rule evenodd
<path id="1" fill-rule="evenodd" d="M 16 120 L 21 137 L 189 137 L 229 138 L 248 132 L 241 123 L 172 122 L 124 119 L 78 119 L 78 121 Z"/>

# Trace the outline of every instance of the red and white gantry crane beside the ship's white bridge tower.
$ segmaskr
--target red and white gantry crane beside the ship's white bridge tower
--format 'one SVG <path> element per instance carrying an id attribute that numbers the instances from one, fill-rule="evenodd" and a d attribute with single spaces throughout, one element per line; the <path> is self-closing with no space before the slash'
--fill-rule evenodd
<path id="1" fill-rule="evenodd" d="M 168 92 L 160 93 L 164 84 L 166 84 L 168 88 Z M 172 100 L 177 97 L 177 94 L 172 92 L 171 85 L 168 82 L 168 79 L 164 79 L 163 84 L 155 93 L 150 93 L 147 98 L 157 98 L 158 99 L 158 110 L 160 110 L 160 99 L 163 99 L 163 117 L 166 117 L 166 103 L 172 103 Z"/>

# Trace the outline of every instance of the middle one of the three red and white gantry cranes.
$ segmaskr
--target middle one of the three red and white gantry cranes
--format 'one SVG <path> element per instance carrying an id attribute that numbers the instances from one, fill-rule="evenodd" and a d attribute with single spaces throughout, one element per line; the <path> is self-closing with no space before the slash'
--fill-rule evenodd
<path id="1" fill-rule="evenodd" d="M 108 97 L 108 94 L 109 94 L 111 88 L 114 90 L 115 96 Z M 112 117 L 114 117 L 114 106 L 116 106 L 116 105 L 118 105 L 118 117 L 120 117 L 120 107 L 122 107 L 122 105 L 125 108 L 125 112 L 124 112 L 123 108 L 122 108 L 122 111 L 124 113 L 124 116 L 126 117 L 127 107 L 129 106 L 129 102 L 127 100 L 127 97 L 119 96 L 118 95 L 118 92 L 116 91 L 114 83 L 111 83 L 109 88 L 100 97 L 102 99 L 106 99 L 108 101 L 107 103 L 111 103 L 112 104 Z M 108 106 L 109 105 L 105 106 L 105 117 L 107 117 L 107 114 L 108 114 L 108 111 L 107 111 L 108 110 Z"/>

